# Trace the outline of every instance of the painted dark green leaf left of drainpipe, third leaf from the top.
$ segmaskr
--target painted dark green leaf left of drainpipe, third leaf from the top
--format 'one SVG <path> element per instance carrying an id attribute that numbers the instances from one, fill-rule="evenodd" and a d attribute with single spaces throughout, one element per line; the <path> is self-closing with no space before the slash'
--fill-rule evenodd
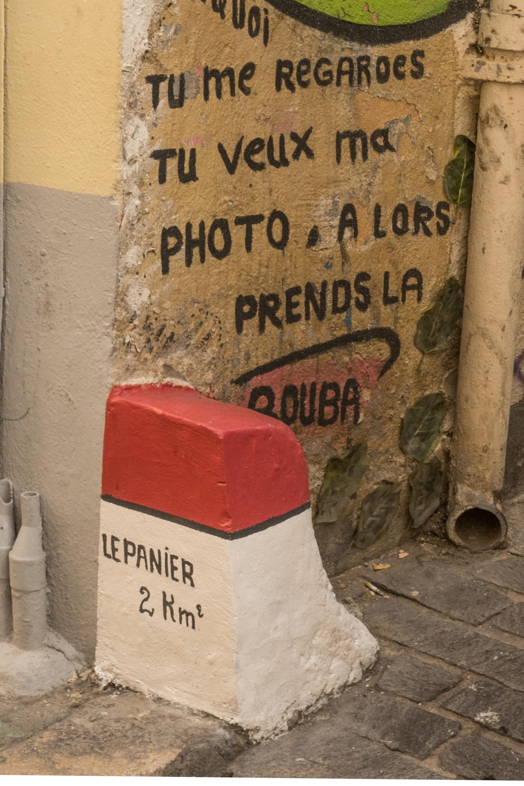
<path id="1" fill-rule="evenodd" d="M 400 447 L 406 456 L 424 461 L 436 446 L 446 404 L 441 393 L 424 395 L 413 406 L 408 406 L 400 432 Z"/>

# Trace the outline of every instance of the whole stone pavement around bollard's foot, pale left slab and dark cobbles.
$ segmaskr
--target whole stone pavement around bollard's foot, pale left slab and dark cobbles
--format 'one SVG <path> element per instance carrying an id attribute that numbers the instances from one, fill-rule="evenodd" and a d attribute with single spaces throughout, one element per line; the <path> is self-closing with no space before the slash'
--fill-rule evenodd
<path id="1" fill-rule="evenodd" d="M 524 544 L 406 549 L 334 579 L 380 656 L 289 733 L 250 745 L 215 718 L 87 677 L 0 700 L 0 774 L 523 780 Z"/>

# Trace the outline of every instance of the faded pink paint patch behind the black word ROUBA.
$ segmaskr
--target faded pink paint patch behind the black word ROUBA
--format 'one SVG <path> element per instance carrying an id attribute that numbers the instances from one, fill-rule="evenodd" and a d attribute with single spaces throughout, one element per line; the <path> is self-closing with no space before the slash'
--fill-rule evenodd
<path id="1" fill-rule="evenodd" d="M 308 360 L 257 376 L 234 403 L 302 428 L 347 428 L 360 422 L 369 401 L 364 390 L 377 386 L 384 361 L 353 358 L 351 364 Z"/>

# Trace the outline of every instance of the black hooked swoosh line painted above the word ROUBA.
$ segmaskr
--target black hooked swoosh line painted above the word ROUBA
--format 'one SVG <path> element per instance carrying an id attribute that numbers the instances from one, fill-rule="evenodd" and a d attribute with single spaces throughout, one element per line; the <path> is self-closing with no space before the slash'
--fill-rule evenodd
<path id="1" fill-rule="evenodd" d="M 275 369 L 282 369 L 284 365 L 296 363 L 298 360 L 305 360 L 306 358 L 313 358 L 316 354 L 323 354 L 329 352 L 330 349 L 336 347 L 345 347 L 350 343 L 364 343 L 367 341 L 386 341 L 389 347 L 389 358 L 382 366 L 382 371 L 378 375 L 378 379 L 383 376 L 386 371 L 389 371 L 393 363 L 397 360 L 400 354 L 400 338 L 398 334 L 391 328 L 368 328 L 367 330 L 354 330 L 352 333 L 345 333 L 344 336 L 338 336 L 336 339 L 330 341 L 323 341 L 323 343 L 313 344 L 312 347 L 306 349 L 298 349 L 297 351 L 285 354 L 282 358 L 270 360 L 268 363 L 257 365 L 256 369 L 246 371 L 245 374 L 238 376 L 236 380 L 231 380 L 231 384 L 243 385 L 254 376 L 261 376 L 267 374 L 269 371 Z"/>

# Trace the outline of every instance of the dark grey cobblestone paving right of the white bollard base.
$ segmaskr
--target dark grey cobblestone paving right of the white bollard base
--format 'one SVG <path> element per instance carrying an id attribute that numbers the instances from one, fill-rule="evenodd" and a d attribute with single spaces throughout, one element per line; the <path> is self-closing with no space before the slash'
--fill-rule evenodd
<path id="1" fill-rule="evenodd" d="M 524 779 L 524 548 L 406 549 L 333 582 L 378 638 L 373 670 L 222 774 Z"/>

